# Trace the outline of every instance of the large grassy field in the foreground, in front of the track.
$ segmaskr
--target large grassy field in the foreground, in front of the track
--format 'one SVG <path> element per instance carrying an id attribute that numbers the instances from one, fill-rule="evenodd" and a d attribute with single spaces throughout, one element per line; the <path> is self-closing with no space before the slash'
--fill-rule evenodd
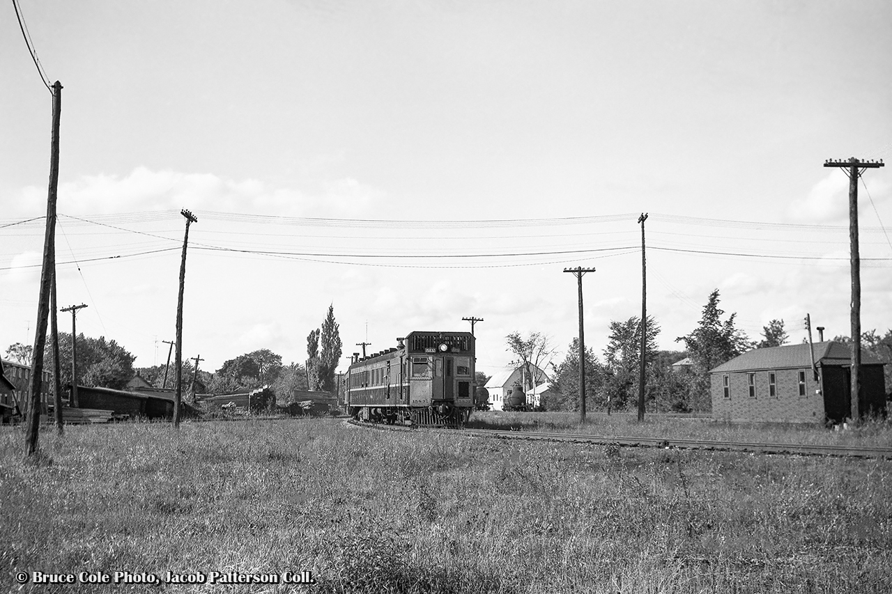
<path id="1" fill-rule="evenodd" d="M 20 591 L 20 571 L 301 570 L 316 583 L 21 591 L 892 589 L 888 461 L 508 442 L 339 419 L 72 426 L 62 440 L 42 434 L 38 465 L 22 464 L 23 441 L 20 428 L 0 430 L 2 591 Z"/>

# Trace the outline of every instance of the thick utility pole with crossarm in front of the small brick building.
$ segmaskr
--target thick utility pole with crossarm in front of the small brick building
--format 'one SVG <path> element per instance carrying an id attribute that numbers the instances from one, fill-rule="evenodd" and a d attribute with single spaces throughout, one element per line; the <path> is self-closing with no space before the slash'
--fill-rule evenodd
<path id="1" fill-rule="evenodd" d="M 848 238 L 851 243 L 852 268 L 852 421 L 861 418 L 861 257 L 858 254 L 858 177 L 864 169 L 884 167 L 883 161 L 860 161 L 851 157 L 848 161 L 824 161 L 824 167 L 838 167 L 848 176 Z"/>

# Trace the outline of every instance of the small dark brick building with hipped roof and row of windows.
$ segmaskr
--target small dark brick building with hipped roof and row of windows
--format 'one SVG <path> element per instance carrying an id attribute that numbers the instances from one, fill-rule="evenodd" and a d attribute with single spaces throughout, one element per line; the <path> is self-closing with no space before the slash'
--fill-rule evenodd
<path id="1" fill-rule="evenodd" d="M 713 417 L 727 421 L 840 423 L 850 416 L 850 347 L 789 344 L 748 351 L 710 371 Z M 862 416 L 886 414 L 884 362 L 862 351 Z"/>

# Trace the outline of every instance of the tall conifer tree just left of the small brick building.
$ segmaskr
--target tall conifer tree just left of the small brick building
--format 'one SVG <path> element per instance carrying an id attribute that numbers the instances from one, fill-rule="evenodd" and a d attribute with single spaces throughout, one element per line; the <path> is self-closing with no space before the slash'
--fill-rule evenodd
<path id="1" fill-rule="evenodd" d="M 719 309 L 719 290 L 709 294 L 709 301 L 703 307 L 699 325 L 687 336 L 679 336 L 694 363 L 695 387 L 693 402 L 695 409 L 711 409 L 709 398 L 709 370 L 737 357 L 752 347 L 747 334 L 734 326 L 736 313 L 722 321 L 723 309 Z"/>

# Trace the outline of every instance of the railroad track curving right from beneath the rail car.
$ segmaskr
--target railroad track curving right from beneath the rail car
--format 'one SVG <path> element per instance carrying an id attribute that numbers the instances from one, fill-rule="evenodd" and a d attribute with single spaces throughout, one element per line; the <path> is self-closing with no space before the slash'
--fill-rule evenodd
<path id="1" fill-rule="evenodd" d="M 394 431 L 417 431 L 417 428 L 399 425 L 374 425 L 350 421 L 353 425 Z M 433 431 L 455 431 L 453 429 L 433 429 Z M 501 431 L 498 429 L 464 429 L 465 435 L 478 437 L 541 440 L 541 441 L 574 441 L 596 445 L 618 445 L 638 448 L 662 448 L 665 450 L 706 450 L 706 451 L 741 451 L 754 454 L 780 454 L 788 456 L 831 456 L 841 458 L 880 458 L 892 460 L 892 448 L 864 448 L 858 446 L 839 445 L 805 445 L 800 443 L 750 443 L 746 441 L 706 441 L 668 439 L 665 437 L 621 437 L 617 435 L 586 435 L 582 433 L 541 433 L 521 431 Z"/>

